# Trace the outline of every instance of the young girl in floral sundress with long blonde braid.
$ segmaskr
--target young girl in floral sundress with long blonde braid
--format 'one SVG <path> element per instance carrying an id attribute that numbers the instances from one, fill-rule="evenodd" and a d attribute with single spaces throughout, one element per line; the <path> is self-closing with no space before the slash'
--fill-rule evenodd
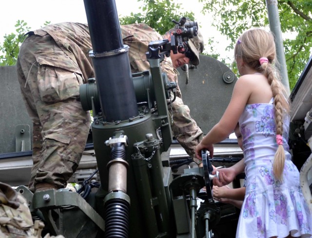
<path id="1" fill-rule="evenodd" d="M 237 40 L 234 53 L 241 77 L 224 115 L 196 146 L 196 156 L 200 159 L 206 148 L 212 158 L 213 144 L 226 139 L 239 122 L 247 178 L 236 238 L 311 237 L 312 216 L 288 153 L 289 104 L 273 66 L 273 35 L 248 30 Z M 221 169 L 214 184 L 225 185 L 242 171 L 240 162 Z"/>

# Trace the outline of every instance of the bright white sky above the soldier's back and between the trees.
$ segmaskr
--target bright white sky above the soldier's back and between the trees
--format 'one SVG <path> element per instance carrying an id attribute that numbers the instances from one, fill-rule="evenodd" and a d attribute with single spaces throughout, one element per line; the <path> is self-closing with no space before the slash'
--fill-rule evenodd
<path id="1" fill-rule="evenodd" d="M 130 15 L 131 12 L 138 13 L 140 11 L 139 6 L 142 4 L 137 0 L 115 1 L 119 17 Z M 198 3 L 198 0 L 193 0 L 192 4 L 190 4 L 190 0 L 179 0 L 179 3 L 182 4 L 184 10 L 194 12 L 195 20 L 200 26 L 204 39 L 208 40 L 213 36 L 219 42 L 215 44 L 220 45 L 217 48 L 220 49 L 219 53 L 222 58 L 229 54 L 232 55 L 233 52 L 223 51 L 229 41 L 211 27 L 211 19 L 208 15 L 203 16 L 200 13 L 203 3 Z M 1 3 L 1 8 L 0 43 L 3 42 L 5 34 L 15 32 L 15 24 L 18 20 L 27 22 L 32 30 L 39 29 L 45 21 L 51 21 L 51 23 L 64 21 L 87 23 L 83 0 L 8 0 Z M 206 47 L 207 50 L 208 48 Z"/>

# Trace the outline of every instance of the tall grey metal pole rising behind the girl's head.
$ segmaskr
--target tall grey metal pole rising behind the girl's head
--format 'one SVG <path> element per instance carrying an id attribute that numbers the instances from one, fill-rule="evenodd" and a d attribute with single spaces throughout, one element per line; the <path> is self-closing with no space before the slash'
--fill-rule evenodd
<path id="1" fill-rule="evenodd" d="M 284 84 L 288 95 L 290 95 L 290 87 L 288 81 L 287 65 L 284 52 L 284 44 L 282 39 L 281 24 L 279 21 L 277 0 L 266 0 L 268 9 L 268 18 L 270 30 L 275 36 L 276 54 L 279 62 L 279 70 L 281 72 L 282 83 Z"/>

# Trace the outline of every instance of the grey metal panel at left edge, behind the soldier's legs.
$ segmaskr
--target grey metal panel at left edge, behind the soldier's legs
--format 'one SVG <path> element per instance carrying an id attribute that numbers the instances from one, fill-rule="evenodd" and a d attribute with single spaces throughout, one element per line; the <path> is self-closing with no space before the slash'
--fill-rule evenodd
<path id="1" fill-rule="evenodd" d="M 32 135 L 33 124 L 21 97 L 16 66 L 1 66 L 0 82 L 0 154 L 3 154 L 15 152 L 15 127 L 28 124 Z"/>

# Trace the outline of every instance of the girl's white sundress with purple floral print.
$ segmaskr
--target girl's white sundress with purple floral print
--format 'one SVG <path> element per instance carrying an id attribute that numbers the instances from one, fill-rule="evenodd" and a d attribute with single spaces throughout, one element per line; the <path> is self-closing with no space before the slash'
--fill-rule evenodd
<path id="1" fill-rule="evenodd" d="M 272 102 L 273 99 L 270 103 L 246 105 L 239 119 L 247 179 L 236 238 L 312 234 L 312 215 L 300 189 L 299 171 L 288 153 L 289 119 L 285 119 L 283 133 L 286 154 L 283 181 L 273 177 L 277 144 Z"/>

